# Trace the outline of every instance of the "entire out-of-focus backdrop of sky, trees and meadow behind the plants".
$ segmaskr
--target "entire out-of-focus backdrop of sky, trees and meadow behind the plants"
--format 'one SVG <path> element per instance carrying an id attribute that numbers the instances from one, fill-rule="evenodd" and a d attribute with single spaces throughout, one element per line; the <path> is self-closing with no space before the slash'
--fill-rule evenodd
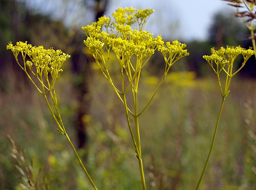
<path id="1" fill-rule="evenodd" d="M 0 190 L 22 189 L 23 183 L 7 134 L 18 149 L 26 150 L 39 184 L 45 178 L 54 190 L 92 189 L 67 140 L 56 131 L 43 97 L 6 50 L 10 41 L 71 55 L 57 87 L 71 140 L 98 189 L 141 188 L 123 106 L 95 69 L 80 29 L 125 6 L 154 9 L 145 29 L 165 41 L 187 44 L 190 55 L 172 67 L 140 116 L 140 132 L 148 189 L 195 189 L 221 102 L 217 78 L 202 56 L 212 47 L 252 46 L 242 20 L 230 16 L 235 9 L 219 0 L 0 0 Z M 159 53 L 148 63 L 140 80 L 141 107 L 160 82 L 163 65 Z M 255 66 L 252 57 L 232 79 L 199 189 L 256 189 L 256 139 L 251 137 L 256 134 Z"/>

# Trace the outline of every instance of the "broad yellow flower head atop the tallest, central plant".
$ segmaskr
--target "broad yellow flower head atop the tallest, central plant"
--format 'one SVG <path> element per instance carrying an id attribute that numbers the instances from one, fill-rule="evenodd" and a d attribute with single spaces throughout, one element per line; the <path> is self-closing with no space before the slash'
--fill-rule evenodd
<path id="1" fill-rule="evenodd" d="M 154 12 L 152 9 L 118 8 L 112 14 L 115 21 L 104 16 L 98 22 L 82 27 L 87 36 L 84 44 L 96 60 L 102 59 L 101 55 L 105 50 L 112 49 L 120 64 L 128 61 L 132 55 L 143 61 L 151 57 L 156 50 L 163 53 L 168 64 L 171 64 L 170 61 L 174 61 L 174 59 L 178 60 L 188 56 L 189 53 L 184 50 L 186 44 L 181 44 L 178 41 L 165 44 L 161 36 L 158 35 L 154 38 L 153 34 L 144 30 L 145 23 L 152 12 Z M 139 25 L 139 29 L 131 28 L 134 23 Z"/>

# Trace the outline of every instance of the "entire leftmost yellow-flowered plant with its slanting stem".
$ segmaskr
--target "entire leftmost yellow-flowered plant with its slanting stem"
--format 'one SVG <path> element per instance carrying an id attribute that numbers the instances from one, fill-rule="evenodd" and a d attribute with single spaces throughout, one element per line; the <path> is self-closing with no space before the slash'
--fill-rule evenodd
<path id="1" fill-rule="evenodd" d="M 72 147 L 76 158 L 81 165 L 81 167 L 84 170 L 84 173 L 86 174 L 87 178 L 91 182 L 93 188 L 97 190 L 97 187 L 92 181 L 92 178 L 88 174 L 87 170 L 84 167 L 83 162 L 81 161 L 79 155 L 76 152 L 76 149 L 72 143 L 72 141 L 69 139 L 68 134 L 65 130 L 64 124 L 61 119 L 60 110 L 57 103 L 57 96 L 55 93 L 57 82 L 60 78 L 61 73 L 63 70 L 61 69 L 62 64 L 66 59 L 70 57 L 70 55 L 63 53 L 61 50 L 53 50 L 51 49 L 44 49 L 43 46 L 34 46 L 32 47 L 31 44 L 28 44 L 27 42 L 17 42 L 15 46 L 10 42 L 7 45 L 7 50 L 11 50 L 16 62 L 21 67 L 21 69 L 26 73 L 30 81 L 36 86 L 36 89 L 44 96 L 44 99 L 46 101 L 46 104 L 52 114 L 52 117 L 54 121 L 57 123 L 58 128 L 57 129 L 60 133 L 65 135 L 67 138 L 70 146 Z M 21 53 L 24 67 L 22 67 L 19 63 L 18 55 Z M 28 57 L 26 57 L 28 56 Z M 26 59 L 28 59 L 26 61 Z M 27 69 L 28 67 L 28 69 Z M 33 68 L 34 67 L 34 68 Z M 30 72 L 29 72 L 30 71 Z M 41 84 L 41 88 L 39 85 L 35 83 L 35 81 L 32 79 L 29 73 L 32 73 L 36 77 L 36 79 Z M 51 77 L 49 77 L 49 75 Z M 51 78 L 51 79 L 50 79 Z M 57 113 L 57 117 L 55 116 L 52 107 L 48 101 L 48 98 L 46 96 L 47 93 L 50 93 L 52 103 L 54 106 L 54 109 Z M 58 119 L 57 119 L 58 118 Z"/>

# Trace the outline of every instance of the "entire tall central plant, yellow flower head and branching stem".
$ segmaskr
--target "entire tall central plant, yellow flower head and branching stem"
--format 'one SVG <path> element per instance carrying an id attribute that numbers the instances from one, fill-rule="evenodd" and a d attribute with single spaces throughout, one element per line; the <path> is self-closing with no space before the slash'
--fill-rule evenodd
<path id="1" fill-rule="evenodd" d="M 92 25 L 82 27 L 82 30 L 86 35 L 84 44 L 91 51 L 101 73 L 108 80 L 118 98 L 124 105 L 135 155 L 139 160 L 140 177 L 143 190 L 146 190 L 146 183 L 142 162 L 139 116 L 152 101 L 161 84 L 164 82 L 170 67 L 177 60 L 189 55 L 187 50 L 184 49 L 186 44 L 181 44 L 177 40 L 172 43 L 164 43 L 161 36 L 157 35 L 156 37 L 153 37 L 153 34 L 144 30 L 145 24 L 153 12 L 154 11 L 152 9 L 136 10 L 132 7 L 118 8 L 116 12 L 112 14 L 114 21 L 112 21 L 110 17 L 103 16 L 100 17 L 97 22 L 92 23 Z M 139 25 L 139 29 L 131 28 L 131 25 L 134 23 Z M 107 60 L 103 55 L 106 51 L 108 54 Z M 120 66 L 121 90 L 119 90 L 116 87 L 117 85 L 113 83 L 108 70 L 110 51 L 114 52 Z M 164 77 L 152 97 L 148 100 L 148 103 L 140 112 L 138 112 L 138 89 L 141 71 L 145 68 L 155 51 L 160 51 L 164 56 Z M 132 57 L 135 58 L 135 60 L 132 59 Z M 127 82 L 128 85 L 126 84 Z M 128 94 L 129 89 L 130 94 Z M 127 105 L 126 102 L 126 97 L 129 95 L 132 98 L 132 108 Z M 131 120 L 129 118 L 130 115 L 132 115 L 134 120 L 135 133 L 132 131 Z"/>

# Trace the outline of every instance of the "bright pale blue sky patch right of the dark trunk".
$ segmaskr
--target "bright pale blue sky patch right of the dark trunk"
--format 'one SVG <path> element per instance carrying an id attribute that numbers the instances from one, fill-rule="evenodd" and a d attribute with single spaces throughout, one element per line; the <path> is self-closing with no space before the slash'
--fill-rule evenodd
<path id="1" fill-rule="evenodd" d="M 106 14 L 110 15 L 118 7 L 154 9 L 145 29 L 163 37 L 182 40 L 207 39 L 212 17 L 219 11 L 235 12 L 235 9 L 221 0 L 111 0 Z M 154 26 L 154 27 L 152 27 Z M 148 28 L 147 28 L 148 27 Z M 150 29 L 149 29 L 150 28 Z"/>

